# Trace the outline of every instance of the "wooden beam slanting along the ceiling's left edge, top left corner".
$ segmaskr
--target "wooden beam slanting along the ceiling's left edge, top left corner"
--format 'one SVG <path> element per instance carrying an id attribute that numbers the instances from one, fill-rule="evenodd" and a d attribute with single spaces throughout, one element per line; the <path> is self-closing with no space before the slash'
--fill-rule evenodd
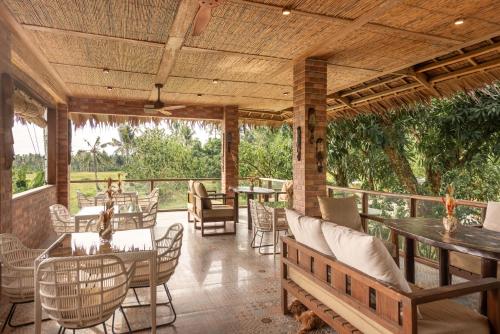
<path id="1" fill-rule="evenodd" d="M 22 43 L 20 48 L 21 51 L 33 57 L 37 62 L 36 64 L 30 63 L 27 57 L 23 57 L 23 54 L 18 54 L 29 67 L 27 69 L 23 67 L 23 70 L 29 71 L 29 73 L 26 74 L 47 91 L 56 102 L 66 103 L 68 96 L 71 95 L 69 89 L 66 87 L 57 71 L 50 65 L 43 52 L 36 46 L 30 36 L 28 36 L 26 30 L 17 22 L 3 1 L 0 2 L 0 19 L 6 23 L 8 29 L 16 35 L 18 40 Z M 46 82 L 46 80 L 38 74 L 40 67 L 51 76 L 52 82 Z"/>

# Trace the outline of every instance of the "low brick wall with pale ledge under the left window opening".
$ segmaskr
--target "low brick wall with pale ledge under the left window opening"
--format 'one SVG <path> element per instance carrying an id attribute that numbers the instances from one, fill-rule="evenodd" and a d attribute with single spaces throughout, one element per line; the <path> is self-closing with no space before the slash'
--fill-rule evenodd
<path id="1" fill-rule="evenodd" d="M 57 203 L 57 189 L 48 185 L 14 195 L 12 233 L 28 247 L 40 247 L 55 238 L 49 206 Z"/>

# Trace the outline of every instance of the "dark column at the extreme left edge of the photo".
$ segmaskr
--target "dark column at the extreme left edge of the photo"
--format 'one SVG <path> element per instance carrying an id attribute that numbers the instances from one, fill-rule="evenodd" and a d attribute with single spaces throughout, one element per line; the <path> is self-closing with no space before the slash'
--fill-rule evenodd
<path id="1" fill-rule="evenodd" d="M 12 160 L 14 147 L 12 125 L 14 82 L 7 73 L 0 74 L 0 232 L 12 232 Z"/>

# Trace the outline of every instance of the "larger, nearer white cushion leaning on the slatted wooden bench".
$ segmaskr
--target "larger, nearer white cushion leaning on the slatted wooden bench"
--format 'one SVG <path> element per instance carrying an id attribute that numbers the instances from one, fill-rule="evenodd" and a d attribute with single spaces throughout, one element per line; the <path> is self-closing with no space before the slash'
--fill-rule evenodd
<path id="1" fill-rule="evenodd" d="M 321 229 L 340 262 L 399 290 L 411 292 L 403 273 L 380 239 L 333 223 L 325 222 Z"/>

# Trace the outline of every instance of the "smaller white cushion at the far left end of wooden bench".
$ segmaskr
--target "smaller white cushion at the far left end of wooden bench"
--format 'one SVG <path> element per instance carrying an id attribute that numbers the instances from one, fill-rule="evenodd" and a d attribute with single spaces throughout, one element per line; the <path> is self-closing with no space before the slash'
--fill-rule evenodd
<path id="1" fill-rule="evenodd" d="M 333 256 L 321 231 L 321 225 L 323 224 L 321 219 L 303 216 L 290 209 L 285 209 L 285 211 L 288 226 L 295 240 L 320 253 Z"/>

